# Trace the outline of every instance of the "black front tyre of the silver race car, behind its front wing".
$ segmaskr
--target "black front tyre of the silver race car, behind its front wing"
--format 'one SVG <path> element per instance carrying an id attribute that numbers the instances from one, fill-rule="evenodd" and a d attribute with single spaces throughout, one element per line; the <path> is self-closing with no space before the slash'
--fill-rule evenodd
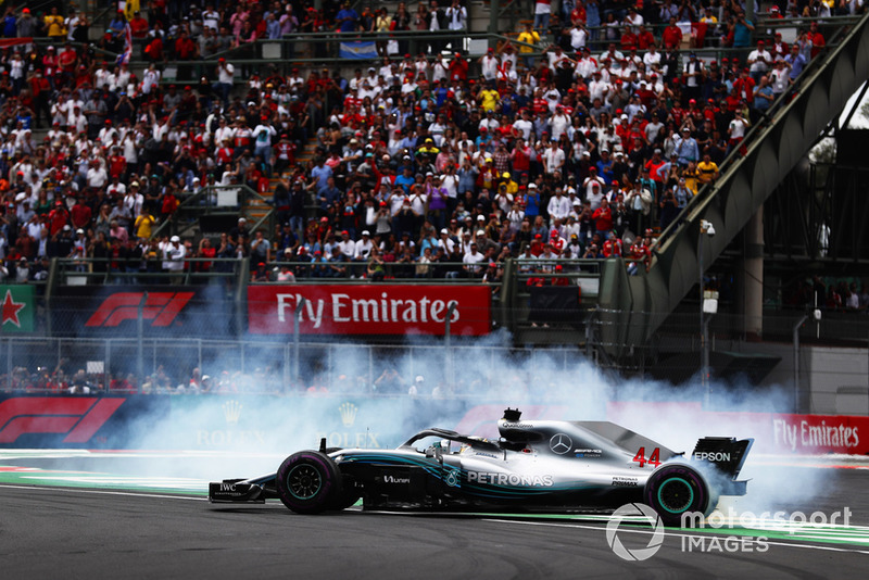
<path id="1" fill-rule="evenodd" d="M 318 514 L 342 496 L 338 467 L 318 451 L 300 451 L 284 459 L 275 483 L 280 501 L 297 514 Z"/>

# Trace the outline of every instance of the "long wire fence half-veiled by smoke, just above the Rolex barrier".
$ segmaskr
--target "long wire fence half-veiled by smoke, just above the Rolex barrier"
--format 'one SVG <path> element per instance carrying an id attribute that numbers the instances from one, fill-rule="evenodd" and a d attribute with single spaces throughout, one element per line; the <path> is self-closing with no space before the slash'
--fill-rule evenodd
<path id="1" fill-rule="evenodd" d="M 473 395 L 492 388 L 527 391 L 534 387 L 533 369 L 566 377 L 583 362 L 576 349 L 486 346 L 461 339 L 449 345 L 375 345 L 18 338 L 0 341 L 0 388 L 58 392 L 81 383 L 103 392 L 392 395 L 416 386 L 425 389 L 420 394 L 439 387 L 443 394 L 449 389 Z"/>

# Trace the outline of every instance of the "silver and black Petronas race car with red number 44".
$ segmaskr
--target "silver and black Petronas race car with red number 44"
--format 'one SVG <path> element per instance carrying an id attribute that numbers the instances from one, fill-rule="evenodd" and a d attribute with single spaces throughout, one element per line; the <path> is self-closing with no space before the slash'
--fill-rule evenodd
<path id="1" fill-rule="evenodd" d="M 700 439 L 693 453 L 606 421 L 521 420 L 507 408 L 490 441 L 423 430 L 394 450 L 327 449 L 287 457 L 276 474 L 209 486 L 212 503 L 279 499 L 298 514 L 344 509 L 583 510 L 642 502 L 666 525 L 708 515 L 736 478 L 754 440 Z"/>

